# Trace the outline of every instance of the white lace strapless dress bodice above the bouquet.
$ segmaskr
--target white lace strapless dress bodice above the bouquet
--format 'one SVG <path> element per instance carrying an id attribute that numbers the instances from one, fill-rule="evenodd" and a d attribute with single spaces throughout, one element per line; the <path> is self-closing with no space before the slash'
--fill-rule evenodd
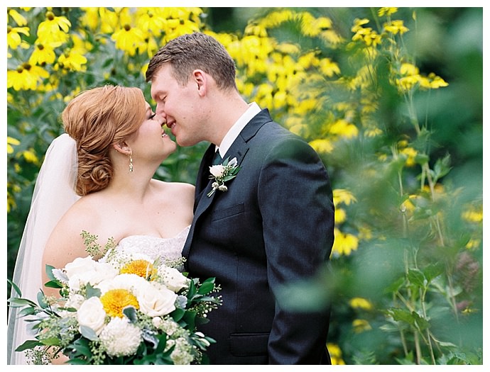
<path id="1" fill-rule="evenodd" d="M 175 237 L 168 238 L 152 237 L 149 235 L 131 235 L 121 239 L 116 249 L 121 249 L 128 254 L 146 254 L 151 259 L 177 260 L 182 257 L 182 249 L 189 230 L 190 226 L 187 226 L 178 235 L 175 235 Z"/>

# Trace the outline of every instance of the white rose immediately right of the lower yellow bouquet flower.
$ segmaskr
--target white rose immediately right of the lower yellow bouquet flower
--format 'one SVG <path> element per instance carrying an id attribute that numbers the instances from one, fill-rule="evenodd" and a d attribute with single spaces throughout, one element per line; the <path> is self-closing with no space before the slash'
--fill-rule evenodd
<path id="1" fill-rule="evenodd" d="M 177 295 L 165 288 L 165 286 L 154 283 L 148 286 L 145 291 L 141 291 L 138 295 L 139 310 L 143 314 L 151 317 L 159 317 L 161 315 L 170 314 L 175 310 L 175 300 Z"/>

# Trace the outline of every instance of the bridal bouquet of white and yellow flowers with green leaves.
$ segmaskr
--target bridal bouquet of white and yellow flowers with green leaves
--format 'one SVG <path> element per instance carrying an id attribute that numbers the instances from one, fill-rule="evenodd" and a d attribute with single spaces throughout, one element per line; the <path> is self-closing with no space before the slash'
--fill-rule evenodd
<path id="1" fill-rule="evenodd" d="M 45 286 L 60 288 L 60 298 L 40 291 L 36 304 L 13 284 L 20 298 L 9 303 L 36 330 L 36 339 L 16 351 L 37 364 L 60 354 L 70 364 L 205 363 L 215 341 L 197 326 L 221 304 L 220 288 L 214 278 L 188 278 L 178 270 L 182 264 L 112 247 L 98 261 L 88 256 L 63 269 L 47 265 Z"/>

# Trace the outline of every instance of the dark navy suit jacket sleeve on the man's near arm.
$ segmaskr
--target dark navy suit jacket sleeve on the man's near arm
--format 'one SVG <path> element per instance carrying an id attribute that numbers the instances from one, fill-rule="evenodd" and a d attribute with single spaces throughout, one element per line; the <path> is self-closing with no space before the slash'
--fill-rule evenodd
<path id="1" fill-rule="evenodd" d="M 324 165 L 303 140 L 273 147 L 258 180 L 268 283 L 278 289 L 312 278 L 330 257 L 333 244 L 332 187 Z M 268 344 L 269 363 L 318 364 L 330 311 L 276 312 Z"/>

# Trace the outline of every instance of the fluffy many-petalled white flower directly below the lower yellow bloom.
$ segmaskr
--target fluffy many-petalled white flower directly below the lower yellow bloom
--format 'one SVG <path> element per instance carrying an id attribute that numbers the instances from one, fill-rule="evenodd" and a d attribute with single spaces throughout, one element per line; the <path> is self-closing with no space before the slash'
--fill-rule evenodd
<path id="1" fill-rule="evenodd" d="M 125 317 L 113 317 L 99 339 L 109 356 L 131 355 L 141 343 L 141 331 Z"/>

